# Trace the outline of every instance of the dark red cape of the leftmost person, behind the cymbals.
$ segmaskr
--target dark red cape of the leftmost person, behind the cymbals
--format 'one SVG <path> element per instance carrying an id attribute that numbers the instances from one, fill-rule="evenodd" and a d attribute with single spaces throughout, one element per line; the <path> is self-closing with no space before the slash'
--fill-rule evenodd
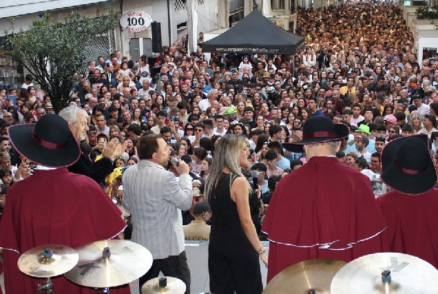
<path id="1" fill-rule="evenodd" d="M 67 168 L 36 170 L 15 183 L 6 195 L 0 222 L 6 293 L 38 293 L 37 279 L 19 271 L 20 254 L 43 244 L 64 244 L 73 249 L 118 235 L 125 227 L 121 211 L 94 180 Z M 72 284 L 63 275 L 52 279 L 54 293 L 96 293 Z M 130 293 L 128 286 L 111 293 Z"/>

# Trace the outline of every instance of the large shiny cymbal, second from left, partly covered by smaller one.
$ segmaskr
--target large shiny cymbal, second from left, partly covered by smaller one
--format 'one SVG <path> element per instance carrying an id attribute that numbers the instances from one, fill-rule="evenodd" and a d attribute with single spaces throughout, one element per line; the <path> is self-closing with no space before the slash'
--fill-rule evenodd
<path id="1" fill-rule="evenodd" d="M 76 248 L 79 262 L 65 273 L 68 280 L 87 287 L 109 288 L 132 282 L 152 266 L 145 247 L 126 240 L 101 240 Z"/>

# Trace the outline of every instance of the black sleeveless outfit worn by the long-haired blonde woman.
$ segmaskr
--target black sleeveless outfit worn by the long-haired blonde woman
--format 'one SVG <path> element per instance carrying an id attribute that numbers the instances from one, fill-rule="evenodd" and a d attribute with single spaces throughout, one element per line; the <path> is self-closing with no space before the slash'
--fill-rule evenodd
<path id="1" fill-rule="evenodd" d="M 209 242 L 210 291 L 262 293 L 259 257 L 240 224 L 236 202 L 231 199 L 230 177 L 230 174 L 222 174 L 209 198 L 213 212 Z"/>

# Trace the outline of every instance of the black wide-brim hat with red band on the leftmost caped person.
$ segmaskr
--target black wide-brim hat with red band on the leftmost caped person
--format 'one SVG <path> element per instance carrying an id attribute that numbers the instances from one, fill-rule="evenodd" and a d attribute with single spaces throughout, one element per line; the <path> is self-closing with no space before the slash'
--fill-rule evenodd
<path id="1" fill-rule="evenodd" d="M 45 167 L 67 167 L 81 155 L 67 121 L 45 114 L 37 123 L 8 128 L 12 146 L 25 158 Z"/>

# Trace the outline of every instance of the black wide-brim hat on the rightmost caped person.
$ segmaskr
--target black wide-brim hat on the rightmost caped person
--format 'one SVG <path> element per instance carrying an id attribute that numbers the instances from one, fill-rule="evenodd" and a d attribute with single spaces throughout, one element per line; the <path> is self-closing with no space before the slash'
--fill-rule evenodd
<path id="1" fill-rule="evenodd" d="M 437 173 L 429 151 L 426 134 L 391 140 L 382 150 L 382 180 L 405 194 L 430 191 Z"/>

